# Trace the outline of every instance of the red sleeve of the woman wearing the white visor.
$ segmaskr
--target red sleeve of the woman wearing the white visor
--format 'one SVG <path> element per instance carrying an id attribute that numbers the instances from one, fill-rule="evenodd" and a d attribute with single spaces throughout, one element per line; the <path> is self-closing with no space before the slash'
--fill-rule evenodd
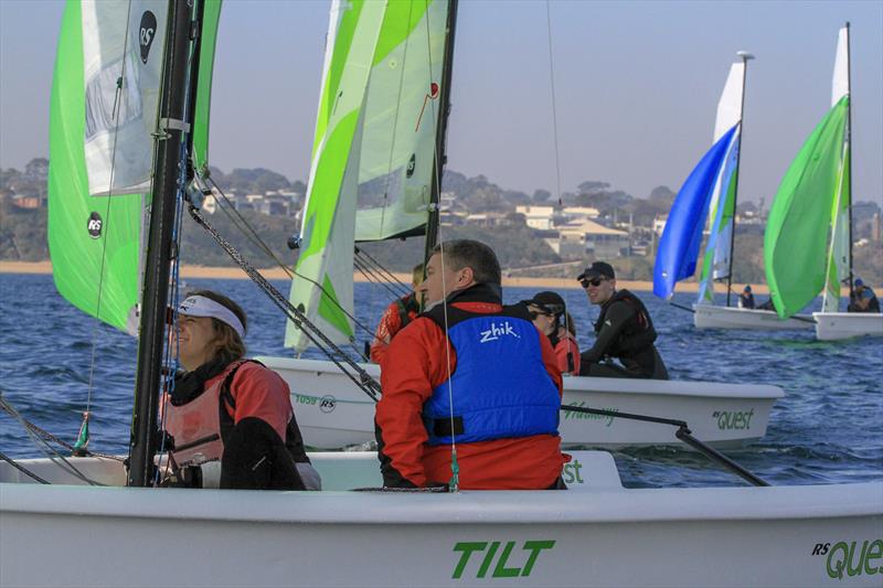
<path id="1" fill-rule="evenodd" d="M 230 392 L 236 402 L 235 424 L 247 417 L 257 417 L 285 439 L 285 429 L 294 410 L 288 384 L 279 374 L 254 362 L 244 363 L 236 370 Z"/>

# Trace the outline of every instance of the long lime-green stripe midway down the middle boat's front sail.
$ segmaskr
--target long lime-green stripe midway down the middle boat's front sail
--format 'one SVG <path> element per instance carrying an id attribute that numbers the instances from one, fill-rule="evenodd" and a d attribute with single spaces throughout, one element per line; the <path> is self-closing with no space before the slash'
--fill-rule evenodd
<path id="1" fill-rule="evenodd" d="M 305 227 L 310 226 L 309 240 L 301 245 L 302 250 L 297 260 L 298 268 L 311 255 L 321 253 L 326 247 L 338 209 L 340 185 L 349 161 L 350 146 L 358 121 L 358 110 L 341 118 L 322 149 L 322 158 L 316 169 L 313 185 L 310 189 L 309 209 L 306 211 L 304 221 Z"/>

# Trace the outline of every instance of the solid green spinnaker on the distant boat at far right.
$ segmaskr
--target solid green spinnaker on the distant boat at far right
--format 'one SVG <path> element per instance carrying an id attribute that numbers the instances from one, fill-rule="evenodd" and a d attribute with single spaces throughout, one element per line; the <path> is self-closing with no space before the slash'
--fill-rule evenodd
<path id="1" fill-rule="evenodd" d="M 843 96 L 800 148 L 769 211 L 764 263 L 769 293 L 781 318 L 800 311 L 826 285 L 848 116 L 849 96 Z"/>

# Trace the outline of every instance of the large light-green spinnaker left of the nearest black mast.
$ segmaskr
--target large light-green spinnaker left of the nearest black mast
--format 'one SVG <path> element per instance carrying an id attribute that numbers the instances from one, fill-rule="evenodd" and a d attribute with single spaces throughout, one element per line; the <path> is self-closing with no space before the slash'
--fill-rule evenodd
<path id="1" fill-rule="evenodd" d="M 53 278 L 58 292 L 76 308 L 125 330 L 139 297 L 142 196 L 89 196 L 83 71 L 81 3 L 71 0 L 62 18 L 50 103 Z"/>

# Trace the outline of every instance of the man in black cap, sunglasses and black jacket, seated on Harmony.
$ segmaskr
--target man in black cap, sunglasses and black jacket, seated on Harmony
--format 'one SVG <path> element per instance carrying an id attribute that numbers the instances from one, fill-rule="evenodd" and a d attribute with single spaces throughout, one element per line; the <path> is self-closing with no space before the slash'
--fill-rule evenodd
<path id="1" fill-rule="evenodd" d="M 613 266 L 595 261 L 576 279 L 588 300 L 600 306 L 595 344 L 583 352 L 579 375 L 668 379 L 666 364 L 653 345 L 657 333 L 650 313 L 637 296 L 616 289 Z"/>

